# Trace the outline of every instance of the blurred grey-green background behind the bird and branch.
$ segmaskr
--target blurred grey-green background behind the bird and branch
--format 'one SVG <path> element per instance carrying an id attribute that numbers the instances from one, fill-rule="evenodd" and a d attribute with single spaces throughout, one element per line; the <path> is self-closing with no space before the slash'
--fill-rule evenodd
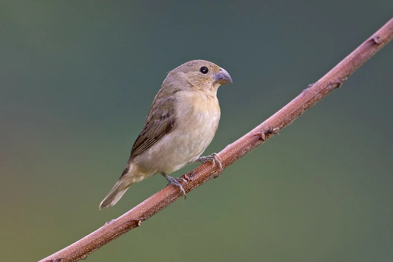
<path id="1" fill-rule="evenodd" d="M 37 261 L 166 185 L 120 177 L 166 72 L 225 68 L 219 152 L 392 17 L 393 1 L 2 1 L 0 253 Z M 393 44 L 293 125 L 89 261 L 392 261 Z M 197 165 L 174 173 L 181 176 Z"/>

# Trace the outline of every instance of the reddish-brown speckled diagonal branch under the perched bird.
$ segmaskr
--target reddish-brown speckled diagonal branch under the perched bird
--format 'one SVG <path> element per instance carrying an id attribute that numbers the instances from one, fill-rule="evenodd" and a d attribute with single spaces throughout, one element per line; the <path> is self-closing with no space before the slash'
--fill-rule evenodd
<path id="1" fill-rule="evenodd" d="M 364 41 L 355 51 L 345 57 L 325 76 L 317 82 L 310 84 L 294 100 L 282 107 L 265 122 L 225 147 L 218 154 L 223 168 L 225 169 L 239 158 L 260 146 L 279 130 L 290 125 L 304 111 L 315 105 L 328 93 L 339 88 L 355 70 L 391 41 L 392 38 L 393 18 Z M 217 165 L 212 166 L 211 163 L 205 163 L 183 175 L 182 178 L 186 182 L 182 182 L 182 186 L 185 192 L 188 193 L 212 178 L 218 177 L 220 173 L 222 173 L 222 170 L 219 170 Z M 139 227 L 146 219 L 181 197 L 182 193 L 179 188 L 168 185 L 119 218 L 107 222 L 90 235 L 85 236 L 40 262 L 75 262 L 85 259 L 89 254 L 106 243 L 131 229 Z"/>

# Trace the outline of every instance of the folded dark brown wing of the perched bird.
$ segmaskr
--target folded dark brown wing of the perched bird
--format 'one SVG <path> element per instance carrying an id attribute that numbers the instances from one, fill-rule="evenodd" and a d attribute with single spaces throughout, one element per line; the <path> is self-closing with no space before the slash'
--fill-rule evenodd
<path id="1" fill-rule="evenodd" d="M 155 100 L 146 117 L 145 127 L 131 149 L 130 159 L 142 154 L 176 125 L 175 100 Z M 156 105 L 155 105 L 156 104 Z"/>

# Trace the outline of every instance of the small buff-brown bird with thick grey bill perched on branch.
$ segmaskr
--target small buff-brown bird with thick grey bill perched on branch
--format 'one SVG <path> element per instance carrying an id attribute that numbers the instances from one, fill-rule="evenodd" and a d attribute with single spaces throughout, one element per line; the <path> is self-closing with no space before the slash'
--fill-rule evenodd
<path id="1" fill-rule="evenodd" d="M 145 127 L 131 149 L 119 181 L 99 209 L 115 205 L 128 187 L 157 173 L 185 191 L 167 174 L 188 163 L 212 161 L 215 154 L 200 157 L 214 137 L 220 120 L 217 89 L 232 83 L 227 71 L 205 60 L 193 60 L 170 71 L 155 96 Z"/>

